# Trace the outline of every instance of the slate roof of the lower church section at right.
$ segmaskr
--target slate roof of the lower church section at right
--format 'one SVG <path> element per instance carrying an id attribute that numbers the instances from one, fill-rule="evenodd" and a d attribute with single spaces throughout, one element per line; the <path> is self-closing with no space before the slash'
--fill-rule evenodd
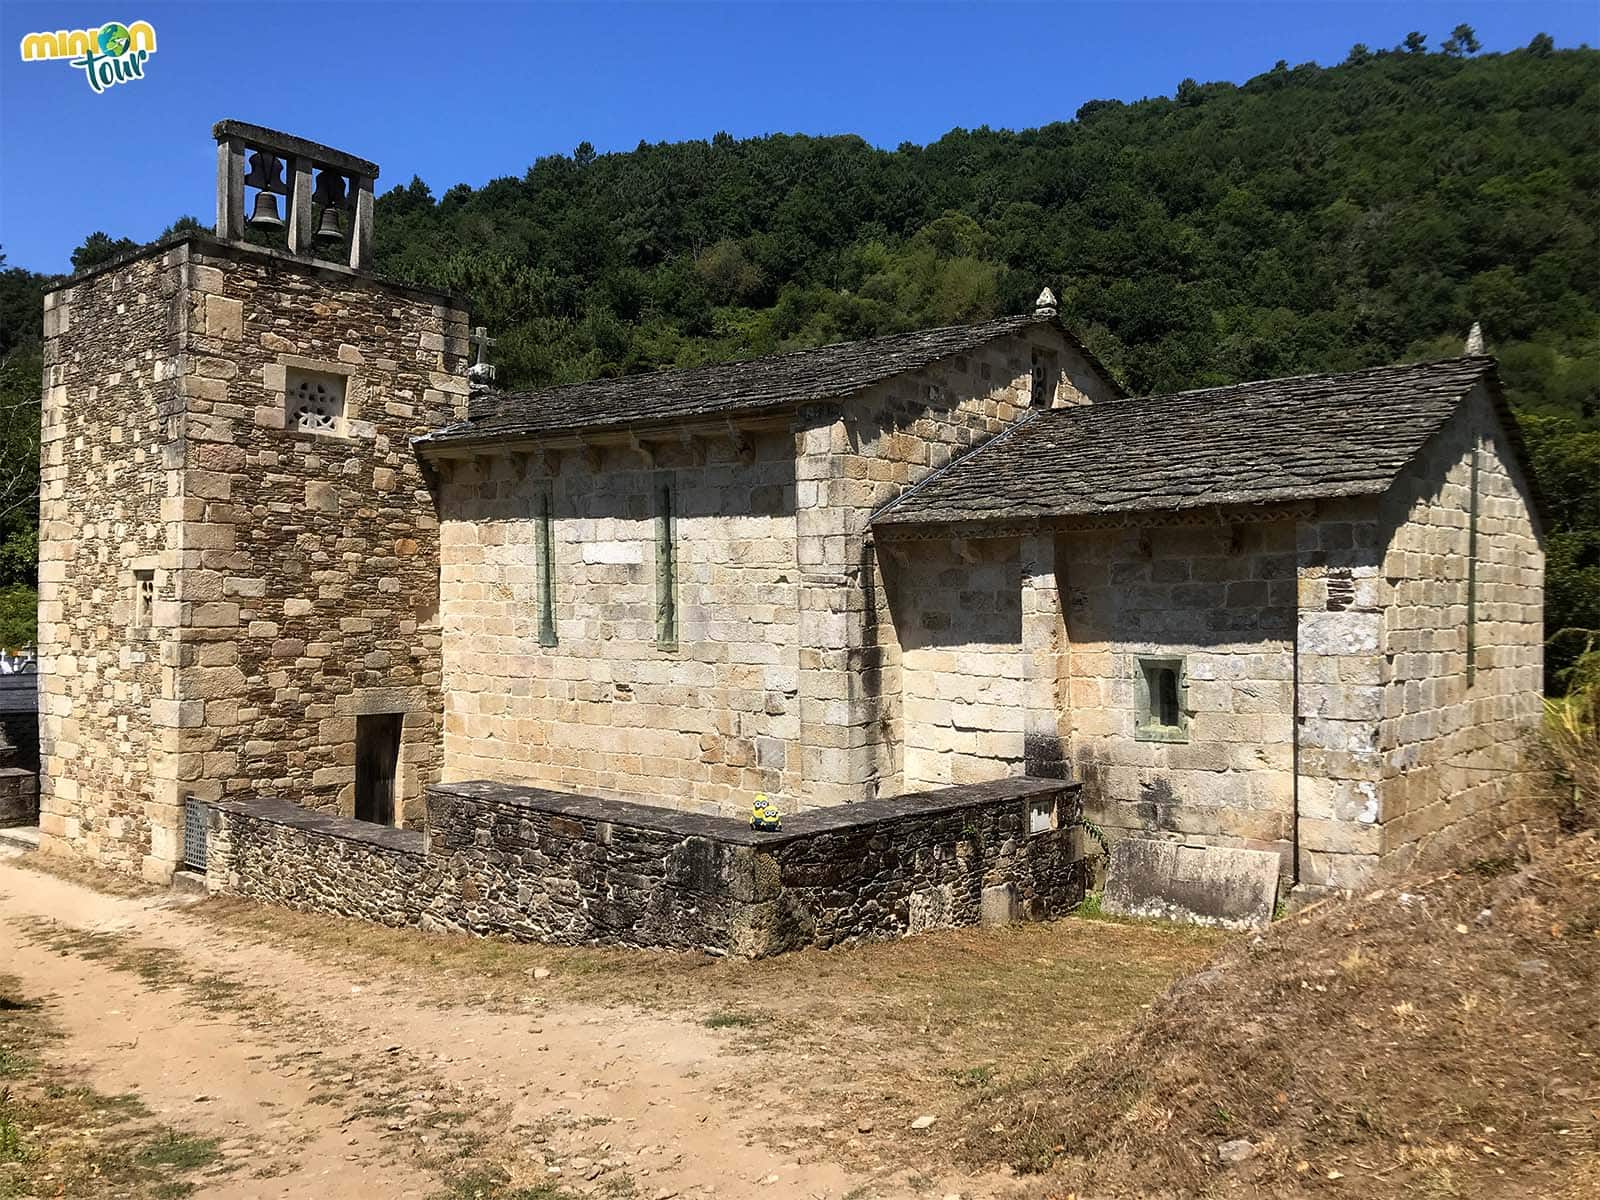
<path id="1" fill-rule="evenodd" d="M 1494 360 L 1464 357 L 1045 410 L 909 488 L 872 523 L 1378 494 L 1480 381 L 1499 402 Z"/>

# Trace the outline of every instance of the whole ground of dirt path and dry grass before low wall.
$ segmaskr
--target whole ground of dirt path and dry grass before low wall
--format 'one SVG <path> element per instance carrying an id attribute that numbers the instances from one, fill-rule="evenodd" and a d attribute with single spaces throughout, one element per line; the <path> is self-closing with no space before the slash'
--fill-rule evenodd
<path id="1" fill-rule="evenodd" d="M 957 1162 L 966 1114 L 1219 942 L 1067 920 L 736 963 L 46 866 L 0 858 L 0 1197 L 1037 1194 Z"/>

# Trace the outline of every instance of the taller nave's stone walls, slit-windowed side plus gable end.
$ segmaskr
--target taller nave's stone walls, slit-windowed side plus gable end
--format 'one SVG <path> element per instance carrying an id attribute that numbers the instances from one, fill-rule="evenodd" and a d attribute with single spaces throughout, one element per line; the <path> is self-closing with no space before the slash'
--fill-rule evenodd
<path id="1" fill-rule="evenodd" d="M 629 443 L 600 430 L 442 459 L 445 776 L 730 811 L 757 790 L 797 810 L 976 778 L 934 762 L 902 778 L 901 651 L 867 520 L 1022 416 L 1035 350 L 1058 365 L 1053 403 L 1110 394 L 1038 326 L 853 397 L 734 422 L 736 437 L 683 427 Z M 667 480 L 670 648 L 654 624 Z M 546 494 L 555 645 L 539 629 Z"/>

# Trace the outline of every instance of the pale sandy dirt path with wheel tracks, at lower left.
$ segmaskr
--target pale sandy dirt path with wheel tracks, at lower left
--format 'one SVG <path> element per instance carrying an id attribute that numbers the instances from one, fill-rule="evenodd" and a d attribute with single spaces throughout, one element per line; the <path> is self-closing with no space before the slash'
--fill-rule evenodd
<path id="1" fill-rule="evenodd" d="M 536 997 L 523 1013 L 443 1008 L 405 981 L 230 936 L 186 904 L 0 854 L 0 962 L 48 1000 L 56 1053 L 86 1082 L 224 1139 L 234 1170 L 198 1197 L 470 1197 L 475 1170 L 646 1200 L 934 1184 L 850 1174 L 803 1128 L 762 1144 L 771 1096 L 702 1024 Z"/>

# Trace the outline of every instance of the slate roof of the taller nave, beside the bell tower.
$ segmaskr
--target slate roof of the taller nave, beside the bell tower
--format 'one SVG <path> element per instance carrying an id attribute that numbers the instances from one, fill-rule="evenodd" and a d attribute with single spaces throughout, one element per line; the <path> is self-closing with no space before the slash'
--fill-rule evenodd
<path id="1" fill-rule="evenodd" d="M 1035 325 L 1061 328 L 1050 315 L 998 317 L 978 325 L 891 333 L 742 363 L 651 371 L 538 392 L 493 392 L 475 402 L 466 421 L 419 438 L 419 445 L 475 445 L 499 438 L 581 434 L 606 426 L 779 410 L 806 400 L 848 395 Z M 1072 341 L 1070 334 L 1067 338 Z M 1109 373 L 1101 374 L 1110 379 Z"/>

